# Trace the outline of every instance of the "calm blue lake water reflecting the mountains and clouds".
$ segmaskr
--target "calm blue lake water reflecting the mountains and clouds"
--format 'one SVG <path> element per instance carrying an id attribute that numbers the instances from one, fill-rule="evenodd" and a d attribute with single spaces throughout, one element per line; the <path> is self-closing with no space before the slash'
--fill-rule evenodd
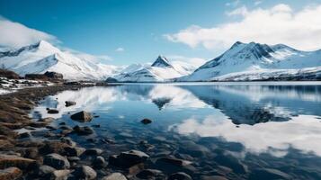
<path id="1" fill-rule="evenodd" d="M 76 101 L 65 107 L 65 101 Z M 59 110 L 47 114 L 46 108 Z M 100 117 L 80 123 L 70 113 Z M 321 179 L 320 83 L 141 84 L 86 87 L 46 98 L 35 117 L 56 117 L 73 127 L 100 124 L 81 146 L 105 155 L 138 149 L 150 155 L 148 168 L 229 179 Z M 144 125 L 144 118 L 153 120 Z M 89 139 L 89 140 L 88 140 Z M 114 140 L 114 144 L 103 143 Z M 147 140 L 152 146 L 139 142 Z M 156 163 L 173 156 L 192 161 L 174 167 Z M 272 175 L 272 176 L 268 176 Z M 203 176 L 204 177 L 204 176 Z"/>

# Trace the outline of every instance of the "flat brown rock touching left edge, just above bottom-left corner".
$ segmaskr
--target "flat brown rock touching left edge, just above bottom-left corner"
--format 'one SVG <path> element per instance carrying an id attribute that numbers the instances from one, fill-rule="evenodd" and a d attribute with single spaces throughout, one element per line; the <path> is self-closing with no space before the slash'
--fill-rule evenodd
<path id="1" fill-rule="evenodd" d="M 0 154 L 0 169 L 16 166 L 21 169 L 29 169 L 36 165 L 36 161 L 30 158 L 18 157 L 16 155 Z"/>

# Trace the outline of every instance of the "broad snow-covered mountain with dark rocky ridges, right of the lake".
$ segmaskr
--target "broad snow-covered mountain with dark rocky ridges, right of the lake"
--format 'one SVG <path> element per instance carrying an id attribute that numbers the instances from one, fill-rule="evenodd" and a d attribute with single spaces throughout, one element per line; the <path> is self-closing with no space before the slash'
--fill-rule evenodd
<path id="1" fill-rule="evenodd" d="M 321 77 L 321 50 L 301 51 L 283 44 L 269 46 L 237 41 L 230 49 L 178 81 L 262 80 Z"/>

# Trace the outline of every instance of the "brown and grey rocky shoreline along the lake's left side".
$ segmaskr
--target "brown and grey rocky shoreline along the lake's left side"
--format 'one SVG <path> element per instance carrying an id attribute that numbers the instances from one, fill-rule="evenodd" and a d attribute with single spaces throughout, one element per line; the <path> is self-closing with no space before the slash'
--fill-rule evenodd
<path id="1" fill-rule="evenodd" d="M 0 95 L 0 180 L 8 179 L 192 179 L 184 172 L 164 175 L 157 169 L 145 169 L 149 156 L 139 150 L 122 151 L 118 155 L 103 156 L 103 149 L 83 148 L 73 139 L 94 133 L 90 126 L 69 127 L 59 123 L 51 126 L 54 118 L 34 120 L 33 108 L 46 96 L 65 90 L 78 90 L 92 85 L 54 85 L 20 89 Z M 73 105 L 66 102 L 66 105 Z M 48 113 L 55 110 L 48 108 Z M 76 116 L 93 118 L 87 112 Z M 147 120 L 143 120 L 144 123 Z M 151 121 L 148 120 L 148 123 Z M 96 125 L 99 128 L 99 125 Z M 30 131 L 19 131 L 19 130 Z M 19 131 L 19 132 L 18 132 Z M 106 143 L 113 143 L 108 141 Z M 152 146 L 146 141 L 141 146 Z M 159 162 L 158 162 L 159 161 Z M 190 161 L 163 157 L 159 164 L 189 166 Z M 223 178 L 223 177 L 222 177 Z"/>

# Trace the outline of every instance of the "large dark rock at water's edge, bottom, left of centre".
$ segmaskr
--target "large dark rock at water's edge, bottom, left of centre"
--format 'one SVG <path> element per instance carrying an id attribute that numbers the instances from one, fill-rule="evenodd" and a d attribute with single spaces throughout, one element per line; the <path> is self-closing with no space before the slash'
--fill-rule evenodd
<path id="1" fill-rule="evenodd" d="M 120 166 L 128 168 L 130 166 L 143 163 L 147 160 L 149 156 L 138 150 L 129 150 L 126 152 L 121 152 L 118 156 L 111 156 L 109 162 L 112 166 Z"/>

